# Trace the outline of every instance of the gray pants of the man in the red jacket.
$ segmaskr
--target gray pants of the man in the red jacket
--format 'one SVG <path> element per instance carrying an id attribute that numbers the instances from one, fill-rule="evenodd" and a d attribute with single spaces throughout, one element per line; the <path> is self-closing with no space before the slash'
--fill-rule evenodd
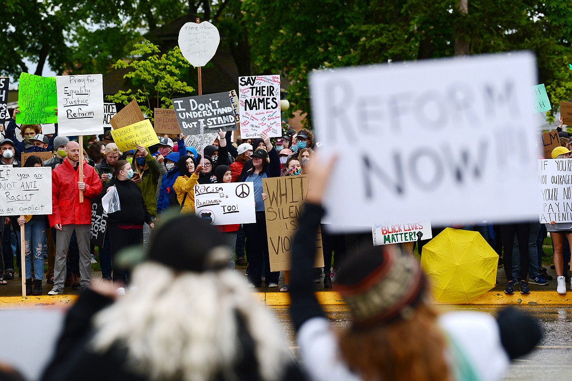
<path id="1" fill-rule="evenodd" d="M 77 247 L 80 250 L 81 288 L 88 288 L 92 280 L 92 256 L 90 253 L 90 225 L 62 225 L 55 240 L 54 287 L 63 289 L 66 279 L 66 258 L 72 233 L 76 231 Z"/>

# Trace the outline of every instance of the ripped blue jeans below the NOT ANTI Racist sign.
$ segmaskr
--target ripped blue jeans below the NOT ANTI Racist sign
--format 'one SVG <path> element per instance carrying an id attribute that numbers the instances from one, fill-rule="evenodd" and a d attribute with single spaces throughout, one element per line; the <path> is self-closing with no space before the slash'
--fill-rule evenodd
<path id="1" fill-rule="evenodd" d="M 31 257 L 34 257 L 34 279 L 43 279 L 43 248 L 47 239 L 45 216 L 33 217 L 24 225 L 24 252 L 26 253 L 26 279 L 31 279 Z M 20 240 L 20 230 L 15 230 Z"/>

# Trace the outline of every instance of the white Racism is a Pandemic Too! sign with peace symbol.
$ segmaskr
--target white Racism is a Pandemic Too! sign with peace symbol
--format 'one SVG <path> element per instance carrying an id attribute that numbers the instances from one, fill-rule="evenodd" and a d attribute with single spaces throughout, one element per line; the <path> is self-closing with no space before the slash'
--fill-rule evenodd
<path id="1" fill-rule="evenodd" d="M 212 225 L 256 222 L 254 184 L 198 184 L 194 186 L 194 212 Z"/>

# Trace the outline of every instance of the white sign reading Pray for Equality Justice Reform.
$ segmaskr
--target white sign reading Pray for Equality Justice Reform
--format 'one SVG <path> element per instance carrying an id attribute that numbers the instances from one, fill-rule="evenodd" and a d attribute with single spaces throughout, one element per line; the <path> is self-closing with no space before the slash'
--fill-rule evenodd
<path id="1" fill-rule="evenodd" d="M 104 79 L 101 74 L 58 76 L 58 134 L 104 133 Z"/>

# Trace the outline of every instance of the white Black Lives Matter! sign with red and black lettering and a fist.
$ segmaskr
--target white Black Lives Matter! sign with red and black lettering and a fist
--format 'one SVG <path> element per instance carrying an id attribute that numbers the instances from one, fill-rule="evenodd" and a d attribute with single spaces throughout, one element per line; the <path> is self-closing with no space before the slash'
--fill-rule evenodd
<path id="1" fill-rule="evenodd" d="M 406 224 L 376 224 L 371 228 L 374 246 L 415 242 L 433 237 L 430 221 L 416 221 Z"/>

